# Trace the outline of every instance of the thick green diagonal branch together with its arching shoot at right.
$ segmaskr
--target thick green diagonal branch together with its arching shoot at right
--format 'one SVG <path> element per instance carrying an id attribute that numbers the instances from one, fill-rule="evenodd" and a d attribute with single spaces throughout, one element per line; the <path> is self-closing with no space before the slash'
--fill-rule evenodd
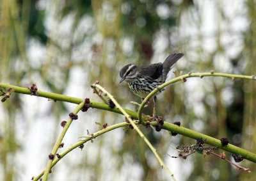
<path id="1" fill-rule="evenodd" d="M 163 88 L 164 86 L 167 86 L 168 84 L 175 83 L 177 81 L 185 81 L 186 78 L 188 78 L 188 77 L 204 77 L 204 76 L 221 76 L 221 77 L 230 77 L 231 79 L 243 78 L 243 79 L 255 80 L 254 75 L 245 76 L 245 75 L 232 75 L 232 74 L 219 74 L 219 73 L 213 73 L 213 74 L 212 73 L 196 73 L 196 74 L 186 74 L 186 75 L 181 75 L 179 77 L 176 77 L 175 79 L 172 79 L 171 81 L 168 81 L 167 83 L 164 83 L 163 85 L 161 85 L 162 87 L 159 87 L 159 89 Z M 12 86 L 12 85 L 3 84 L 3 83 L 0 83 L 0 86 L 2 88 L 5 88 L 6 90 L 8 88 L 13 88 L 13 90 L 16 93 L 23 93 L 23 94 L 31 95 L 31 91 L 28 88 L 21 88 L 19 86 Z M 152 95 L 154 95 L 154 93 L 156 93 L 156 90 L 154 90 L 154 92 L 150 93 L 147 96 L 147 99 L 152 97 Z M 79 104 L 83 101 L 83 99 L 81 99 L 81 98 L 68 97 L 65 95 L 60 95 L 57 93 L 49 93 L 49 92 L 40 91 L 40 90 L 38 90 L 37 93 L 38 93 L 38 95 L 37 95 L 38 97 L 45 97 L 45 98 L 49 98 L 51 100 L 60 100 L 60 101 L 64 101 L 64 102 L 74 103 L 74 104 Z M 147 101 L 147 100 L 145 99 L 145 101 Z M 132 119 L 138 120 L 138 116 L 141 116 L 141 111 L 142 111 L 143 107 L 145 106 L 145 101 L 142 102 L 138 113 L 131 111 L 129 109 L 124 109 L 124 111 L 127 114 L 129 114 Z M 119 109 L 117 109 L 116 107 L 111 108 L 108 106 L 108 104 L 104 104 L 101 102 L 94 102 L 92 100 L 90 101 L 90 107 L 122 114 L 122 112 Z M 148 118 L 146 116 L 141 116 L 140 119 L 143 120 L 143 122 L 147 122 L 147 120 L 148 120 Z M 151 125 L 156 126 L 157 122 L 152 122 Z M 256 163 L 255 153 L 248 152 L 247 150 L 244 150 L 242 148 L 239 148 L 239 147 L 231 145 L 231 144 L 228 144 L 227 146 L 222 147 L 220 140 L 211 138 L 205 134 L 201 134 L 199 132 L 195 132 L 193 130 L 186 129 L 184 127 L 179 127 L 177 125 L 173 125 L 168 122 L 164 122 L 163 129 L 166 129 L 166 130 L 172 131 L 172 132 L 177 132 L 178 134 L 181 134 L 183 136 L 188 136 L 189 138 L 193 138 L 193 139 L 199 139 L 199 138 L 207 139 L 207 141 L 205 143 L 207 143 L 211 146 L 219 146 L 223 150 L 227 150 L 228 152 L 234 153 L 236 155 L 242 155 L 244 157 L 244 159 L 247 159 L 248 161 L 252 161 L 252 162 Z"/>

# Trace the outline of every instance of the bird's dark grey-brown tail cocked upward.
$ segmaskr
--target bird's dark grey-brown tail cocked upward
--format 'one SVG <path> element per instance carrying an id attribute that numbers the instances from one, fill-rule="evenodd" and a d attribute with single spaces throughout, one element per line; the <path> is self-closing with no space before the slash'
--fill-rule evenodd
<path id="1" fill-rule="evenodd" d="M 182 58 L 184 54 L 182 53 L 177 53 L 177 54 L 170 54 L 163 63 L 163 75 L 164 75 L 164 80 L 167 77 L 168 72 L 171 70 L 172 66 L 174 63 L 176 63 L 180 58 Z"/>

